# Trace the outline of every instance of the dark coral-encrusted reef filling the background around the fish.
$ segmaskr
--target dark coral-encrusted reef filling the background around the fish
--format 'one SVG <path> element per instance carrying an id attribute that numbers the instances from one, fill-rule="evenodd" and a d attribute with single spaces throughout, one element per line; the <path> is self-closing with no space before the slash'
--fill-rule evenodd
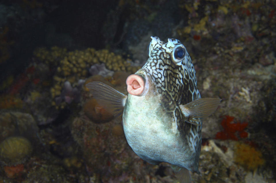
<path id="1" fill-rule="evenodd" d="M 36 15 L 47 6 L 39 20 L 55 9 L 48 1 L 22 3 L 0 10 L 1 20 L 21 7 L 28 10 L 21 15 Z M 26 67 L 1 78 L 0 182 L 179 182 L 169 163 L 152 165 L 133 152 L 121 120 L 85 87 L 101 81 L 127 94 L 126 78 L 146 61 L 151 35 L 181 40 L 201 96 L 222 99 L 203 122 L 201 175 L 192 173 L 193 182 L 276 182 L 276 2 L 179 0 L 168 5 L 120 1 L 99 29 L 105 48 L 87 46 L 88 34 L 81 35 L 85 46 L 78 49 L 72 49 L 74 36 L 70 48 L 37 46 Z M 93 20 L 101 15 L 91 14 Z M 96 23 L 74 31 L 95 31 Z M 9 37 L 13 25 L 7 25 L 11 28 L 3 23 L 0 29 L 0 64 L 9 61 L 17 44 Z"/>

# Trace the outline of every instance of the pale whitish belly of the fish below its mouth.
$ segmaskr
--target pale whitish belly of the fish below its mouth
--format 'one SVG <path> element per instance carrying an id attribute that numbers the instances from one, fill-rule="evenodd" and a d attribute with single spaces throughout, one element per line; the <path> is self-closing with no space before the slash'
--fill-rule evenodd
<path id="1" fill-rule="evenodd" d="M 183 165 L 180 161 L 185 158 L 185 149 L 176 123 L 173 116 L 158 105 L 154 101 L 143 100 L 126 103 L 123 127 L 127 142 L 139 157 L 150 163 Z"/>

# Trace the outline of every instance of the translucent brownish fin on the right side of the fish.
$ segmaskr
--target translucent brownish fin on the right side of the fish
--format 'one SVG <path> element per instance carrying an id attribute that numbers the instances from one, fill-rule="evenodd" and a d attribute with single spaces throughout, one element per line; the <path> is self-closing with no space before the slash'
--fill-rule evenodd
<path id="1" fill-rule="evenodd" d="M 185 105 L 179 105 L 186 122 L 201 125 L 201 122 L 210 116 L 221 102 L 220 98 L 200 98 Z"/>

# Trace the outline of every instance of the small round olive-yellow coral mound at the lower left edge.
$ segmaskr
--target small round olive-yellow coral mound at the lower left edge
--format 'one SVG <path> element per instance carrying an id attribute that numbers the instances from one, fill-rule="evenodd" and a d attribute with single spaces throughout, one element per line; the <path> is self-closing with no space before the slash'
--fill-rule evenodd
<path id="1" fill-rule="evenodd" d="M 32 144 L 24 137 L 9 137 L 0 143 L 0 162 L 12 166 L 24 163 L 32 153 Z"/>

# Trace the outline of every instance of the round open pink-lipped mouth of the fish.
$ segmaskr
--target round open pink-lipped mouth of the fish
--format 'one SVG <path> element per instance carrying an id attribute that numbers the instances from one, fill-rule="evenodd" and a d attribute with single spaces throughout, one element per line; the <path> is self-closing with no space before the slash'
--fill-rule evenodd
<path id="1" fill-rule="evenodd" d="M 131 95 L 141 96 L 145 92 L 145 79 L 137 74 L 127 77 L 127 92 Z"/>

